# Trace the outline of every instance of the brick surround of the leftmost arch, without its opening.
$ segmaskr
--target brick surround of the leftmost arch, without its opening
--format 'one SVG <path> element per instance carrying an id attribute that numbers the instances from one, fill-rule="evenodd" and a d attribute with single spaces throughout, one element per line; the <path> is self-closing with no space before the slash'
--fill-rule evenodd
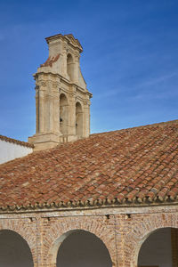
<path id="1" fill-rule="evenodd" d="M 9 230 L 14 231 L 24 239 L 30 249 L 34 267 L 37 266 L 36 263 L 36 231 L 33 228 L 28 227 L 28 222 L 22 222 L 21 220 L 10 220 L 7 219 L 3 222 L 0 221 L 0 231 Z"/>

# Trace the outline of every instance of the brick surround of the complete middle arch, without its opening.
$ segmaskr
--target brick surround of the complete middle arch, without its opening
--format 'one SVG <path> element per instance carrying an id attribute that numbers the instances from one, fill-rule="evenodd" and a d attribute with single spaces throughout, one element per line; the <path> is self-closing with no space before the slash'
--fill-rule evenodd
<path id="1" fill-rule="evenodd" d="M 69 236 L 69 233 L 71 233 L 72 231 L 83 230 L 91 232 L 97 238 L 101 239 L 101 241 L 109 251 L 110 259 L 114 266 L 117 259 L 115 234 L 114 231 L 111 231 L 109 230 L 109 228 L 107 228 L 104 220 L 101 221 L 102 222 L 98 222 L 96 220 L 92 220 L 91 218 L 80 221 L 74 218 L 65 218 L 65 223 L 61 223 L 60 220 L 53 223 L 53 225 L 46 231 L 44 237 L 44 256 L 46 255 L 44 262 L 46 262 L 46 265 L 56 266 L 57 251 L 61 245 L 61 242 L 67 236 Z M 65 236 L 65 234 L 67 235 Z M 55 263 L 53 261 L 54 259 Z"/>

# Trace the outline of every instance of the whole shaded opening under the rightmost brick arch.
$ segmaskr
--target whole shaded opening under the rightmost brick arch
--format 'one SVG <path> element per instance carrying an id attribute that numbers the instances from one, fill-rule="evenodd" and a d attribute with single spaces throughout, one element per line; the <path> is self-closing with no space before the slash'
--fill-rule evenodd
<path id="1" fill-rule="evenodd" d="M 178 266 L 178 230 L 162 228 L 153 231 L 142 244 L 138 266 Z"/>

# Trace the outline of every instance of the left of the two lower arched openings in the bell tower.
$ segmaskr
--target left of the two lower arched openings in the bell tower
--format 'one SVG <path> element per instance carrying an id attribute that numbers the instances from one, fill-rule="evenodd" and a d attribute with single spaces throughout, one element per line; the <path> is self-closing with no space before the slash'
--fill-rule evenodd
<path id="1" fill-rule="evenodd" d="M 69 134 L 69 104 L 64 93 L 60 95 L 60 131 Z"/>

